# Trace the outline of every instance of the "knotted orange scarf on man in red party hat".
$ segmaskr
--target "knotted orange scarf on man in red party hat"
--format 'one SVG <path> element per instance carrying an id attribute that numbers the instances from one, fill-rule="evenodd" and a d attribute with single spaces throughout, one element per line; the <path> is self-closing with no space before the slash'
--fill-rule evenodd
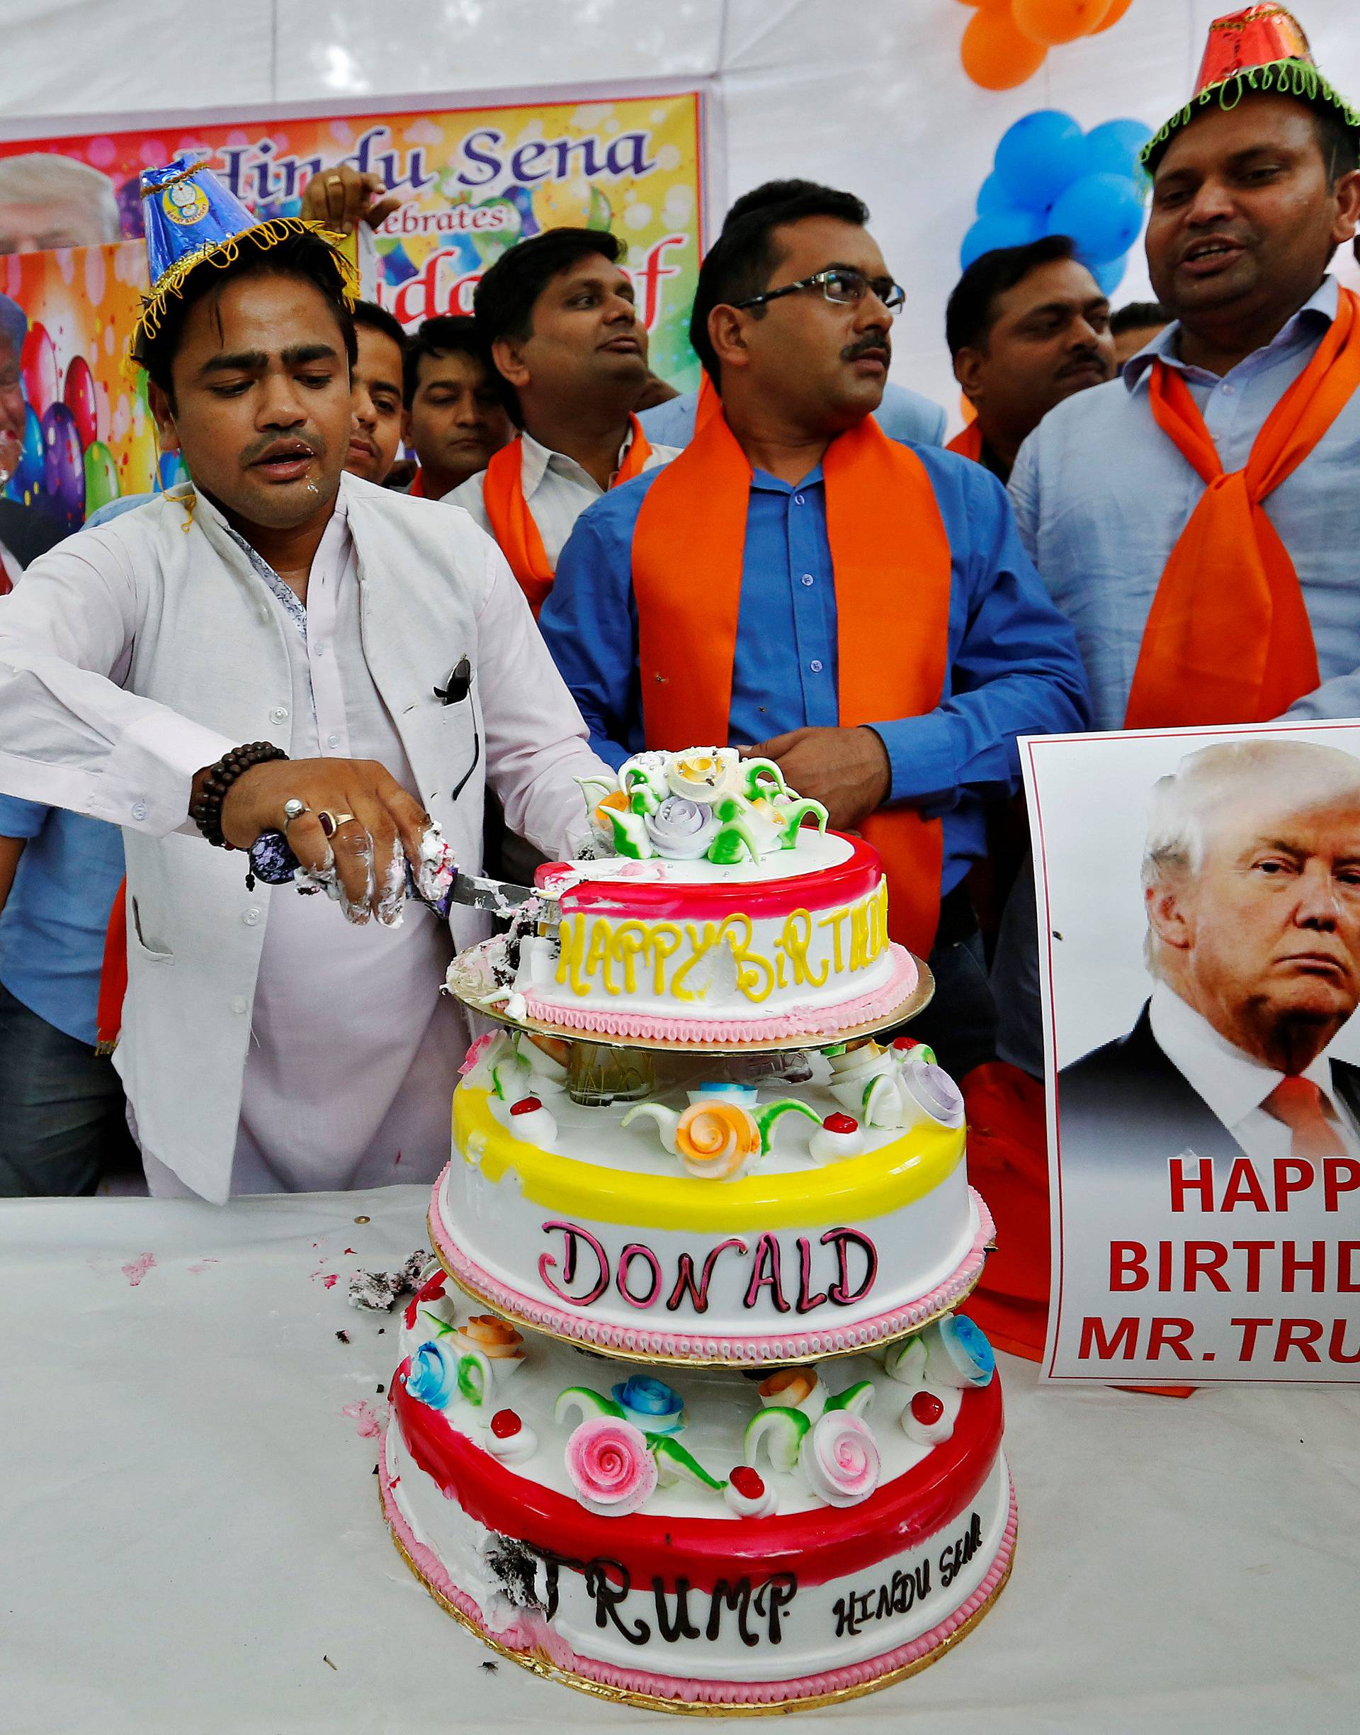
<path id="1" fill-rule="evenodd" d="M 1266 416 L 1246 468 L 1225 475 L 1185 380 L 1152 364 L 1152 416 L 1206 486 L 1152 600 L 1126 729 L 1263 723 L 1317 687 L 1299 576 L 1261 501 L 1298 470 L 1357 387 L 1360 298 L 1341 290 L 1331 330 Z"/>

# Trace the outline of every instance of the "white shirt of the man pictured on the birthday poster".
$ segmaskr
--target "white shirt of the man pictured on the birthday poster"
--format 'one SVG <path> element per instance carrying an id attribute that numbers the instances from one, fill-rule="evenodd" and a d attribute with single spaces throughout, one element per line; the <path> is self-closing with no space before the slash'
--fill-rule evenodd
<path id="1" fill-rule="evenodd" d="M 1199 1091 L 1237 1143 L 1258 1162 L 1272 1162 L 1291 1154 L 1289 1126 L 1261 1103 L 1284 1079 L 1284 1072 L 1254 1060 L 1230 1043 L 1209 1020 L 1188 1006 L 1166 982 L 1152 991 L 1148 1012 L 1152 1034 L 1167 1060 Z M 1337 1136 L 1351 1156 L 1360 1156 L 1360 1128 L 1332 1090 L 1331 1048 L 1324 1048 L 1303 1070 L 1324 1095 L 1324 1110 L 1332 1117 Z"/>

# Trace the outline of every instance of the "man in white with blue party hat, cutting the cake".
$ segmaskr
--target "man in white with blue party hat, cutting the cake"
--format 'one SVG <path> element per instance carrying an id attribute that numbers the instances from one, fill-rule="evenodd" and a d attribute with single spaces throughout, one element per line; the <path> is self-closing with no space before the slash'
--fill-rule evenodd
<path id="1" fill-rule="evenodd" d="M 123 828 L 116 1064 L 153 1192 L 428 1180 L 465 1032 L 449 928 L 399 923 L 427 815 L 481 861 L 489 781 L 562 854 L 598 763 L 494 543 L 342 475 L 345 265 L 213 177 L 142 177 L 134 338 L 193 482 L 36 560 L 0 606 L 0 789 Z M 286 831 L 326 899 L 246 880 Z M 474 930 L 458 928 L 456 939 Z"/>

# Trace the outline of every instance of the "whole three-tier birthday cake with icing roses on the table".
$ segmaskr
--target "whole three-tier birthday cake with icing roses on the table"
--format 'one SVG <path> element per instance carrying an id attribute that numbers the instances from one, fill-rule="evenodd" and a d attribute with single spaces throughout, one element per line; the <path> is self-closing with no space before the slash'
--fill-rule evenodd
<path id="1" fill-rule="evenodd" d="M 487 1643 L 659 1709 L 826 1704 L 984 1612 L 1015 1503 L 985 1206 L 876 854 L 777 765 L 645 753 L 590 789 L 449 985 L 474 1044 L 380 1482 Z M 664 1378 L 663 1378 L 664 1374 Z"/>

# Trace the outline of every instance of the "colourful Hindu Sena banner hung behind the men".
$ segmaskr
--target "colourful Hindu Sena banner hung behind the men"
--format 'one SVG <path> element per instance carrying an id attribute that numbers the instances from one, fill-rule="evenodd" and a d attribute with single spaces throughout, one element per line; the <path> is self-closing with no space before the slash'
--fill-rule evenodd
<path id="1" fill-rule="evenodd" d="M 376 298 L 402 324 L 470 312 L 482 271 L 522 238 L 562 226 L 609 229 L 626 245 L 621 262 L 637 286 L 652 370 L 687 390 L 699 383 L 687 326 L 706 245 L 706 104 L 699 88 L 588 99 L 553 92 L 439 113 L 142 123 L 135 132 L 7 141 L 0 252 L 108 243 L 118 231 L 141 236 L 139 175 L 180 153 L 206 160 L 260 219 L 297 215 L 314 175 L 350 163 L 406 200 L 373 238 Z M 16 227 L 31 210 L 21 196 L 24 165 L 42 174 L 28 163 L 35 153 L 75 165 L 71 210 L 49 239 Z M 23 163 L 10 168 L 5 158 Z M 62 206 L 52 179 L 42 180 L 42 201 L 49 212 Z"/>

